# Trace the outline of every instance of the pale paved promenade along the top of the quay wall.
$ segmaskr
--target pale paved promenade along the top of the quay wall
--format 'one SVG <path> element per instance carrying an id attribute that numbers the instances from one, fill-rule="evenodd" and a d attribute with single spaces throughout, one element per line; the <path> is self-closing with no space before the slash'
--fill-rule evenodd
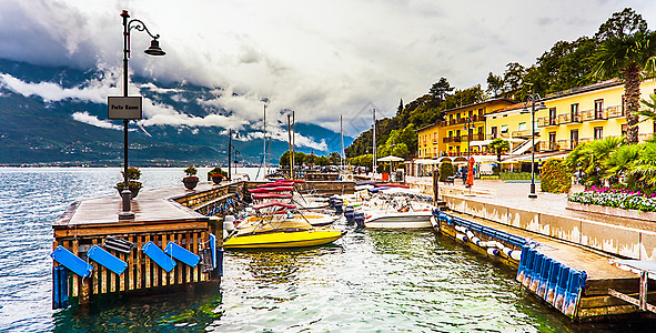
<path id="1" fill-rule="evenodd" d="M 430 176 L 407 176 L 406 182 L 411 183 L 413 186 L 424 189 L 424 191 L 428 194 L 433 194 L 433 179 Z M 470 192 L 470 189 L 466 189 L 462 183 L 458 183 L 457 181 L 453 185 L 440 182 L 440 188 L 457 189 L 460 191 L 463 191 L 463 193 Z M 471 189 L 471 192 L 472 194 L 474 194 L 476 200 L 488 202 L 491 204 L 529 210 L 537 213 L 549 213 L 563 216 L 586 219 L 595 222 L 656 232 L 656 221 L 650 222 L 628 218 L 610 218 L 608 215 L 598 213 L 568 210 L 566 209 L 567 194 L 554 194 L 542 192 L 539 191 L 539 183 L 535 184 L 537 199 L 529 199 L 529 182 L 506 183 L 502 180 L 475 180 L 474 186 L 472 186 Z M 581 192 L 583 191 L 583 186 L 574 185 L 571 191 Z"/>

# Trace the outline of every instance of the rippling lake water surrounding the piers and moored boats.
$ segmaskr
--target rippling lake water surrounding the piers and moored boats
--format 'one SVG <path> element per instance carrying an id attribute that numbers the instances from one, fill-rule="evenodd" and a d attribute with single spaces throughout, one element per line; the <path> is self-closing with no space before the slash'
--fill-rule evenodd
<path id="1" fill-rule="evenodd" d="M 144 188 L 183 169 L 143 168 Z M 201 178 L 206 169 L 200 169 Z M 256 169 L 240 169 L 250 173 Z M 117 195 L 117 169 L 0 169 L 1 332 L 646 332 L 646 322 L 573 324 L 519 291 L 515 271 L 430 231 L 346 229 L 332 245 L 226 252 L 215 290 L 51 310 L 54 220 Z"/>

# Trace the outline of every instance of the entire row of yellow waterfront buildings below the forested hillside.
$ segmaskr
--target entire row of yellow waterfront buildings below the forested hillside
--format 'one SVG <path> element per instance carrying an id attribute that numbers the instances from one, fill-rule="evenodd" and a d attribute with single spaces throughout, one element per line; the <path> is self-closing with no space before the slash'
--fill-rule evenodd
<path id="1" fill-rule="evenodd" d="M 652 93 L 656 93 L 656 80 L 643 81 L 640 99 L 648 100 Z M 534 115 L 535 145 L 541 159 L 563 155 L 583 142 L 619 138 L 626 131 L 624 84 L 618 80 L 552 93 L 542 101 L 546 109 L 537 110 Z M 529 110 L 529 103 L 507 99 L 446 110 L 444 121 L 417 130 L 417 158 L 426 167 L 430 164 L 431 168 L 424 168 L 428 171 L 436 168 L 433 162 L 438 163 L 441 157 L 466 157 L 467 147 L 472 154 L 493 154 L 487 145 L 496 138 L 511 143 L 507 153 L 512 155 L 528 153 L 533 142 Z M 656 122 L 652 120 L 638 124 L 640 142 L 653 138 L 655 132 Z M 521 159 L 506 162 L 518 163 Z"/>

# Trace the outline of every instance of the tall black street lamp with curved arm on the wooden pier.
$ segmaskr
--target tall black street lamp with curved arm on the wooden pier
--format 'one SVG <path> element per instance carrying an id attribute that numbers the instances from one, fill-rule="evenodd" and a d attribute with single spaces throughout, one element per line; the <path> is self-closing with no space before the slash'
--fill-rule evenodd
<path id="1" fill-rule="evenodd" d="M 145 28 L 145 24 L 141 20 L 132 19 L 128 21 L 130 14 L 127 10 L 121 12 L 121 17 L 123 18 L 123 97 L 128 97 L 128 58 L 130 58 L 130 30 L 137 29 L 139 31 L 145 31 L 152 38 L 150 42 L 150 47 L 144 51 L 147 54 L 150 56 L 164 56 L 164 52 L 160 48 L 160 42 L 158 38 L 159 34 L 152 34 Z M 130 208 L 130 200 L 131 200 L 131 192 L 128 189 L 128 121 L 129 119 L 123 119 L 123 191 L 121 192 L 121 198 L 123 201 L 123 209 L 122 212 L 119 213 L 119 220 L 130 220 L 134 219 L 134 213 L 131 211 Z"/>

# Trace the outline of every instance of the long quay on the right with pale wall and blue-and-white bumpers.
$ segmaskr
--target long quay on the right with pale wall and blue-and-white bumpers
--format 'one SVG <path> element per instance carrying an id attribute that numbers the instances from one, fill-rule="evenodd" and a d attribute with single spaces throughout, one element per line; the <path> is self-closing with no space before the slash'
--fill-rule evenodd
<path id="1" fill-rule="evenodd" d="M 534 208 L 531 201 L 524 202 L 514 196 L 508 199 L 511 193 L 499 200 L 482 193 L 471 195 L 466 190 L 455 186 L 441 190 L 441 198 L 450 209 L 450 218 L 442 218 L 443 221 L 438 223 L 440 232 L 494 260 L 518 268 L 518 275 L 523 270 L 531 271 L 532 276 L 528 280 L 533 282 L 528 284 L 518 276 L 518 280 L 523 280 L 523 287 L 565 315 L 573 320 L 652 316 L 645 310 L 655 309 L 650 304 L 656 301 L 656 282 L 646 279 L 646 274 L 640 279 L 638 274 L 622 270 L 615 264 L 622 259 L 647 263 L 654 260 L 656 233 L 648 222 L 612 221 L 607 218 L 568 213 L 558 210 L 553 202 L 548 202 L 548 198 L 542 202 L 534 201 L 535 204 L 544 205 Z M 636 228 L 643 224 L 644 228 Z M 499 234 L 526 240 L 527 245 L 508 243 L 507 240 L 499 239 Z M 494 243 L 492 245 L 498 251 L 487 251 L 491 249 L 490 241 L 501 243 L 499 246 Z M 536 259 L 535 263 L 542 262 L 543 266 L 523 268 L 518 258 L 512 259 L 502 251 L 518 251 L 522 248 L 531 248 L 533 254 L 538 254 L 539 260 Z M 553 266 L 555 264 L 552 263 L 557 263 L 558 268 L 566 268 L 581 280 L 575 281 L 581 282 L 581 285 L 574 285 L 573 292 L 576 294 L 571 295 L 574 300 L 572 306 L 547 297 L 544 290 L 541 292 L 538 286 L 544 283 L 545 278 L 547 282 L 553 278 L 549 273 L 552 266 L 547 266 L 547 263 Z M 571 283 L 572 281 L 565 281 L 561 289 L 567 289 Z"/>

